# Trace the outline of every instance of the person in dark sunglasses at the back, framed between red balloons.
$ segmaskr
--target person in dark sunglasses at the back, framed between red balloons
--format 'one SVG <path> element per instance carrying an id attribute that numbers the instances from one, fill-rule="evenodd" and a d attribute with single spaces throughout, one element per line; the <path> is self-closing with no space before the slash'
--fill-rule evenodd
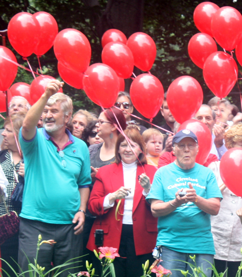
<path id="1" fill-rule="evenodd" d="M 134 124 L 138 126 L 140 135 L 147 129 L 146 127 L 137 123 L 136 120 L 131 120 L 131 113 L 134 111 L 134 106 L 131 102 L 130 94 L 128 92 L 119 92 L 115 107 L 121 108 L 127 124 Z"/>

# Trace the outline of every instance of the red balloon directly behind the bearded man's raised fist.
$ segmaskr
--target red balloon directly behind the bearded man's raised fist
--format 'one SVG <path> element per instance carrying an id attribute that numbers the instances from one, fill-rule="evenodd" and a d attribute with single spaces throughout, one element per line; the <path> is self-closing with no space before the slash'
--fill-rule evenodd
<path id="1" fill-rule="evenodd" d="M 33 105 L 40 99 L 41 95 L 45 92 L 48 82 L 50 82 L 51 80 L 56 79 L 48 75 L 43 75 L 37 77 L 32 81 L 30 85 L 31 105 Z M 62 88 L 58 92 L 63 92 Z"/>

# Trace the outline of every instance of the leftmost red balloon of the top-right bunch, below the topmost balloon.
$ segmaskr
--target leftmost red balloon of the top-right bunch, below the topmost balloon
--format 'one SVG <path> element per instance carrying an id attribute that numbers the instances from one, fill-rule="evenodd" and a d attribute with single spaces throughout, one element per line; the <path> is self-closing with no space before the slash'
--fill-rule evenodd
<path id="1" fill-rule="evenodd" d="M 216 51 L 218 48 L 214 39 L 206 33 L 195 34 L 188 44 L 188 54 L 191 60 L 202 69 L 208 56 Z"/>

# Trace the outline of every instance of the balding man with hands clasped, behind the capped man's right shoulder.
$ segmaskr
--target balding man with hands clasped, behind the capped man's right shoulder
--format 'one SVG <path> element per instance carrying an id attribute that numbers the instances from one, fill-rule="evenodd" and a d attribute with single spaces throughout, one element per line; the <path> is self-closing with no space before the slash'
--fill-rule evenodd
<path id="1" fill-rule="evenodd" d="M 196 113 L 197 120 L 206 124 L 212 134 L 212 148 L 210 153 L 215 154 L 220 160 L 227 151 L 224 144 L 225 129 L 216 122 L 216 114 L 208 105 L 201 105 Z"/>

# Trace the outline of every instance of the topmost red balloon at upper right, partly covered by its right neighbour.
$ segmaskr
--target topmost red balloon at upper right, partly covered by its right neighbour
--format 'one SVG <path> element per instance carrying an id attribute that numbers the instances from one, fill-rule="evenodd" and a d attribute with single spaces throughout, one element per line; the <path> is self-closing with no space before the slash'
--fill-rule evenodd
<path id="1" fill-rule="evenodd" d="M 213 36 L 211 31 L 211 20 L 218 9 L 219 6 L 211 2 L 202 2 L 197 5 L 193 14 L 193 20 L 200 32 Z"/>

